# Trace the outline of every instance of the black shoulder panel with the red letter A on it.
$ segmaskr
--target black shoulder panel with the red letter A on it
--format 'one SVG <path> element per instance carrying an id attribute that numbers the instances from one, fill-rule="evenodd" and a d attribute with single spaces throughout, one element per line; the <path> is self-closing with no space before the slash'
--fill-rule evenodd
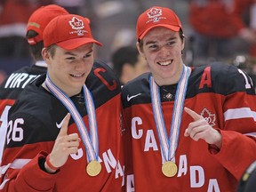
<path id="1" fill-rule="evenodd" d="M 192 70 L 187 97 L 194 97 L 201 92 L 214 92 L 225 96 L 234 92 L 255 94 L 252 80 L 244 71 L 221 62 L 213 62 Z"/>

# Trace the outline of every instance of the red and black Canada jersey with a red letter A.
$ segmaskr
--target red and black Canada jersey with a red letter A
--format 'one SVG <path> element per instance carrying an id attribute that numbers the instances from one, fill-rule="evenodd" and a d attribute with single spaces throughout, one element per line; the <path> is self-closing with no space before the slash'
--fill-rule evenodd
<path id="1" fill-rule="evenodd" d="M 234 66 L 214 63 L 192 68 L 184 107 L 204 116 L 220 130 L 222 147 L 185 137 L 191 116 L 183 112 L 175 163 L 178 172 L 166 177 L 145 74 L 122 89 L 127 191 L 235 191 L 244 170 L 256 159 L 256 98 L 251 79 Z M 177 84 L 160 87 L 169 136 Z"/>

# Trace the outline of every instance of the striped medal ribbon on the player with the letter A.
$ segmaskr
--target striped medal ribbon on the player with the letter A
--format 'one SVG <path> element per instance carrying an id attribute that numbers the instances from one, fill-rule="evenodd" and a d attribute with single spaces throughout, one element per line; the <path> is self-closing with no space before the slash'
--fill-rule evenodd
<path id="1" fill-rule="evenodd" d="M 164 155 L 164 162 L 175 162 L 174 156 L 175 151 L 178 147 L 178 141 L 180 137 L 181 116 L 183 113 L 184 100 L 186 97 L 188 78 L 190 76 L 190 73 L 191 68 L 188 68 L 187 66 L 183 65 L 182 74 L 180 76 L 174 100 L 174 107 L 172 111 L 172 124 L 169 138 L 164 123 L 164 115 L 160 98 L 160 88 L 156 84 L 153 76 L 150 76 L 149 79 L 153 115 L 155 119 L 158 138 L 160 140 L 161 153 L 162 155 Z"/>

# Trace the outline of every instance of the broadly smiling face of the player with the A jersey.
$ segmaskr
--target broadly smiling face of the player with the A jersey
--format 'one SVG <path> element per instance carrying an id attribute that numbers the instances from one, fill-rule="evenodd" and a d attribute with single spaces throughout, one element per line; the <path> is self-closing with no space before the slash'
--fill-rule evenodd
<path id="1" fill-rule="evenodd" d="M 142 47 L 137 43 L 137 48 L 148 61 L 156 84 L 177 84 L 183 68 L 181 51 L 184 49 L 184 39 L 181 40 L 179 32 L 163 27 L 153 28 L 142 42 Z"/>

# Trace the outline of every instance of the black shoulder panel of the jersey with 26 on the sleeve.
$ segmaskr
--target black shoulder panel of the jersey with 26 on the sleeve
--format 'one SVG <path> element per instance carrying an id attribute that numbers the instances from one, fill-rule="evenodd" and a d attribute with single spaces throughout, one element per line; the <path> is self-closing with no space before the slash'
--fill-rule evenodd
<path id="1" fill-rule="evenodd" d="M 68 110 L 61 104 L 60 100 L 44 90 L 41 86 L 44 78 L 45 76 L 40 76 L 33 84 L 28 84 L 21 92 L 19 100 L 10 109 L 8 130 L 12 129 L 10 127 L 12 121 L 12 126 L 22 128 L 24 138 L 19 142 L 10 140 L 7 148 L 38 141 L 55 140 L 60 132 L 56 123 L 60 124 Z M 11 131 L 14 132 L 14 130 Z"/>

